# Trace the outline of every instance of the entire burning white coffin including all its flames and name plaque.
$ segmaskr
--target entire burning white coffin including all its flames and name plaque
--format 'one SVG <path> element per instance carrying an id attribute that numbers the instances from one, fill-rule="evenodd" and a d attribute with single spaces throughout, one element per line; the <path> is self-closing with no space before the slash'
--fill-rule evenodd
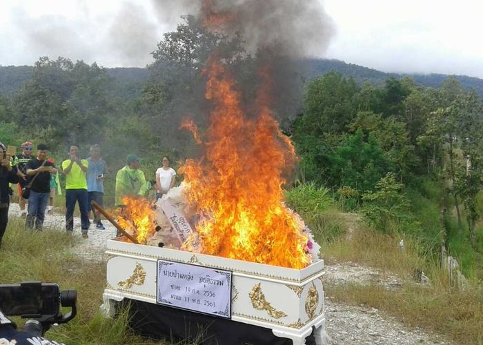
<path id="1" fill-rule="evenodd" d="M 297 157 L 270 110 L 268 74 L 245 107 L 224 61 L 208 59 L 210 125 L 199 132 L 194 121 L 181 124 L 203 154 L 179 168 L 184 186 L 159 201 L 170 204 L 153 211 L 146 201 L 123 200 L 119 224 L 143 245 L 108 242 L 106 311 L 136 299 L 268 328 L 293 344 L 314 332 L 322 344 L 324 262 L 284 204 Z"/>

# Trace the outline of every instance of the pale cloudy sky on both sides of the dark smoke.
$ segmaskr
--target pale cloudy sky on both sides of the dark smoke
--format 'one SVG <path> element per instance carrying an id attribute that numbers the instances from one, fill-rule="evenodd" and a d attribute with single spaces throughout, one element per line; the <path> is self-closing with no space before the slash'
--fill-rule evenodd
<path id="1" fill-rule="evenodd" d="M 179 1 L 179 0 L 172 0 Z M 260 0 L 262 1 L 262 0 Z M 294 0 L 303 1 L 303 0 Z M 156 0 L 1 0 L 0 65 L 48 55 L 146 66 L 179 14 Z M 333 34 L 322 57 L 386 72 L 483 78 L 483 1 L 324 0 Z M 321 35 L 321 37 L 324 35 Z"/>

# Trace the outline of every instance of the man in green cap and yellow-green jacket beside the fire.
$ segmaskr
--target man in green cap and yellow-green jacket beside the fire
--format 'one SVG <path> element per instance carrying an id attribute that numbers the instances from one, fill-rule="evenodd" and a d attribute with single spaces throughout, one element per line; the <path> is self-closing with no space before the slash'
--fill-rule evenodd
<path id="1" fill-rule="evenodd" d="M 126 196 L 141 195 L 141 187 L 146 185 L 144 172 L 139 170 L 141 159 L 137 155 L 128 155 L 124 168 L 116 175 L 116 206 L 124 206 L 122 199 Z"/>

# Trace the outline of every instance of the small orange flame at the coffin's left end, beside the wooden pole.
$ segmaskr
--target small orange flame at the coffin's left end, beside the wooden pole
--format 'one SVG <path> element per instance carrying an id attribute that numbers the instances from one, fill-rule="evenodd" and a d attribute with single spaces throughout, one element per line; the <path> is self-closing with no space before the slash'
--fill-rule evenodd
<path id="1" fill-rule="evenodd" d="M 117 223 L 135 235 L 137 242 L 146 244 L 148 235 L 153 232 L 155 213 L 148 199 L 144 197 L 124 197 L 126 207 L 123 214 L 117 217 Z"/>

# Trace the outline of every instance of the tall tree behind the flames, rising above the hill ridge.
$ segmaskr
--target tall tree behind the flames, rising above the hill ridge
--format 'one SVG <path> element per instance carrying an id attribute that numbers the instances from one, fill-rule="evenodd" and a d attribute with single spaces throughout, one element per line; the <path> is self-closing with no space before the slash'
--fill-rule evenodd
<path id="1" fill-rule="evenodd" d="M 243 61 L 242 40 L 208 31 L 199 19 L 182 17 L 174 32 L 164 34 L 152 52 L 150 78 L 143 90 L 141 110 L 159 133 L 161 146 L 189 146 L 190 136 L 179 134 L 182 117 L 195 117 L 204 124 L 208 103 L 204 100 L 206 77 L 202 69 L 213 52 L 229 68 Z"/>

